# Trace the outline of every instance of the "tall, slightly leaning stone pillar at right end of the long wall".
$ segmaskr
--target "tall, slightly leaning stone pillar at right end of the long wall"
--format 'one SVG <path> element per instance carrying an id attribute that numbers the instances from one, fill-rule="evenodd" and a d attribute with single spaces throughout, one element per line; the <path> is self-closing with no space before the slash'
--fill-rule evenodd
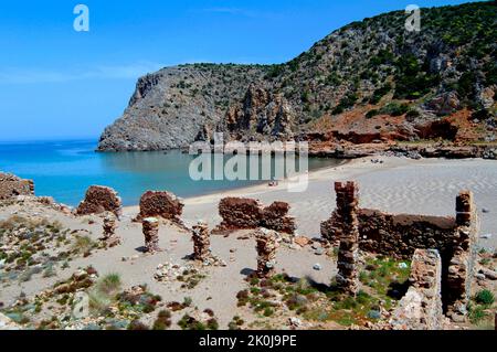
<path id="1" fill-rule="evenodd" d="M 446 277 L 445 302 L 447 316 L 457 322 L 464 321 L 467 316 L 478 231 L 473 193 L 463 191 L 456 199 L 456 228 Z"/>

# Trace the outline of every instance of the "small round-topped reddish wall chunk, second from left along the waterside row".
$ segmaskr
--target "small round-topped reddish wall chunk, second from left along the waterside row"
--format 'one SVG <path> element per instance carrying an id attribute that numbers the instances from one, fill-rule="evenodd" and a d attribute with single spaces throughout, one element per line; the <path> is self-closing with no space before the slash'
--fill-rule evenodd
<path id="1" fill-rule="evenodd" d="M 108 186 L 92 185 L 83 202 L 76 209 L 76 215 L 101 215 L 110 212 L 117 217 L 123 212 L 123 204 L 117 192 Z"/>

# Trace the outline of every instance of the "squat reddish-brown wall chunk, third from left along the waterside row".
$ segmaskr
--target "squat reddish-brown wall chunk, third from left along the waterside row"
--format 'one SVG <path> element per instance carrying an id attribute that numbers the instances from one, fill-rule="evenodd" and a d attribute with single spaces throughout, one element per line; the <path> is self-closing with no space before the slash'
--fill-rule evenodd
<path id="1" fill-rule="evenodd" d="M 183 206 L 181 200 L 170 192 L 148 191 L 141 195 L 140 213 L 135 221 L 140 222 L 147 217 L 157 217 L 182 225 Z"/>

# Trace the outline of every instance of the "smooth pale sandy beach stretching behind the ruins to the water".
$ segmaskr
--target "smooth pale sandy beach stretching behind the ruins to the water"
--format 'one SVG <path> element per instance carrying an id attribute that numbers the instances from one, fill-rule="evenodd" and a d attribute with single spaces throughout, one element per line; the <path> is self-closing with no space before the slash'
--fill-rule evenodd
<path id="1" fill-rule="evenodd" d="M 218 204 L 225 196 L 255 198 L 269 204 L 288 202 L 292 215 L 297 218 L 298 233 L 308 237 L 319 236 L 319 224 L 335 210 L 335 181 L 355 180 L 360 184 L 361 207 L 378 209 L 391 213 L 424 215 L 455 214 L 455 198 L 462 190 L 475 194 L 482 221 L 482 234 L 494 234 L 482 245 L 497 246 L 497 164 L 489 160 L 445 160 L 405 158 L 371 158 L 352 160 L 341 167 L 322 169 L 309 174 L 309 186 L 303 193 L 289 193 L 284 182 L 277 188 L 256 185 L 218 194 L 186 199 L 183 218 L 187 223 L 198 220 L 215 226 Z M 483 214 L 482 210 L 489 213 Z M 134 216 L 137 206 L 125 209 Z"/>

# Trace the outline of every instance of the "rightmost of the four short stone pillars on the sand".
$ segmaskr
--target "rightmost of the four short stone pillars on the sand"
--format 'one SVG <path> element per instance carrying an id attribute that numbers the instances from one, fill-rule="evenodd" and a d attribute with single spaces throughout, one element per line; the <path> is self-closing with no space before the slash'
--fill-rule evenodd
<path id="1" fill-rule="evenodd" d="M 274 231 L 261 228 L 255 233 L 257 249 L 257 276 L 267 278 L 274 275 L 276 265 L 277 235 Z"/>

